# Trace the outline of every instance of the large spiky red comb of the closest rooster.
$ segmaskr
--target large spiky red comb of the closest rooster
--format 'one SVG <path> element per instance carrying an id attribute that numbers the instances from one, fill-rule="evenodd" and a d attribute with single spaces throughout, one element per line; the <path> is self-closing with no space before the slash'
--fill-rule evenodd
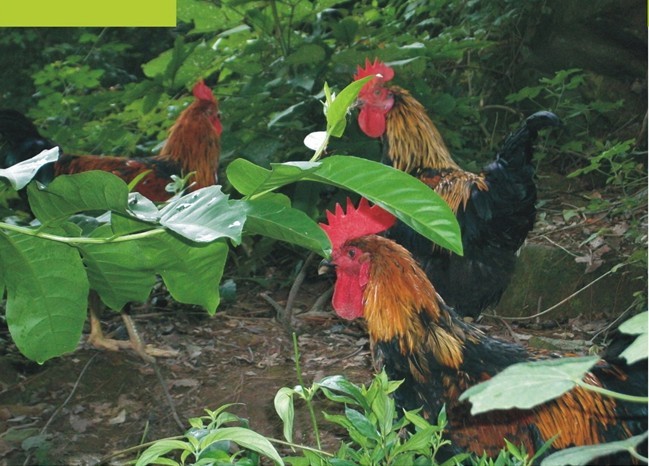
<path id="1" fill-rule="evenodd" d="M 340 204 L 336 204 L 335 213 L 327 211 L 327 223 L 321 223 L 320 227 L 335 249 L 350 239 L 385 231 L 396 220 L 394 215 L 381 207 L 370 207 L 365 198 L 361 198 L 358 208 L 354 208 L 352 200 L 347 198 L 347 212 L 343 211 Z"/>

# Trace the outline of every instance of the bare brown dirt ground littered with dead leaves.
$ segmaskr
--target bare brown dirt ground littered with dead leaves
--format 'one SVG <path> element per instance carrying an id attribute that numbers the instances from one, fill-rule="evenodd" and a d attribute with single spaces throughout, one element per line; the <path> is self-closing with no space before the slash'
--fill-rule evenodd
<path id="1" fill-rule="evenodd" d="M 560 215 L 563 209 L 554 202 L 541 212 L 543 228 L 554 224 L 552 240 L 576 255 L 601 251 L 584 242 L 591 229 L 599 226 L 583 219 L 583 226 L 569 228 L 564 224 L 568 220 Z M 566 237 L 567 232 L 579 234 Z M 613 240 L 619 238 L 613 236 Z M 293 327 L 299 335 L 305 383 L 335 374 L 368 383 L 374 371 L 362 323 L 343 322 L 328 306 L 321 312 L 306 312 L 329 287 L 329 281 L 311 274 L 295 301 Z M 269 292 L 242 281 L 235 299 L 209 317 L 201 309 L 173 303 L 160 287 L 145 308 L 132 312 L 147 343 L 178 351 L 175 357 L 157 359 L 160 377 L 153 365 L 132 351 L 91 348 L 85 341 L 87 332 L 77 351 L 39 366 L 17 351 L 0 321 L 0 466 L 124 464 L 137 452 L 119 452 L 182 434 L 173 411 L 187 428 L 188 418 L 226 403 L 240 403 L 229 410 L 249 419 L 253 430 L 282 438 L 273 398 L 279 388 L 297 384 L 293 343 L 262 293 L 284 305 L 288 286 Z M 102 320 L 105 330 L 126 338 L 117 314 L 107 313 Z M 587 349 L 586 340 L 607 323 L 603 317 L 544 319 L 534 325 L 487 318 L 479 325 L 489 334 L 522 343 L 529 344 L 535 335 L 567 340 L 572 346 L 566 349 L 580 351 Z M 306 409 L 298 405 L 296 412 L 296 441 L 313 445 Z M 340 432 L 325 431 L 325 439 L 325 448 L 335 451 Z"/>

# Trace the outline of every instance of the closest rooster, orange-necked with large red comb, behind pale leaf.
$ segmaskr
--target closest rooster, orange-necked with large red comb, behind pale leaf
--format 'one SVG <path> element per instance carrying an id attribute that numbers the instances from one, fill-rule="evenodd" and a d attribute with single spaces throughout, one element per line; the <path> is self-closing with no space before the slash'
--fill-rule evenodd
<path id="1" fill-rule="evenodd" d="M 554 435 L 552 448 L 622 440 L 647 430 L 647 405 L 614 400 L 575 388 L 529 410 L 500 410 L 472 416 L 459 396 L 506 367 L 540 359 L 520 345 L 491 338 L 464 322 L 436 293 L 412 254 L 377 236 L 395 222 L 378 206 L 361 200 L 347 211 L 338 205 L 321 224 L 333 246 L 333 307 L 345 319 L 364 318 L 373 348 L 388 376 L 404 380 L 395 393 L 399 407 L 423 407 L 431 422 L 446 406 L 448 438 L 456 450 L 495 456 L 507 438 L 530 456 Z M 469 290 L 467 290 L 470 293 Z M 618 353 L 619 354 L 619 353 Z M 627 365 L 618 354 L 594 367 L 586 381 L 623 393 L 647 395 L 646 361 Z M 628 461 L 628 458 L 626 458 Z M 611 462 L 613 461 L 613 462 Z M 606 464 L 620 464 L 610 460 Z"/>

